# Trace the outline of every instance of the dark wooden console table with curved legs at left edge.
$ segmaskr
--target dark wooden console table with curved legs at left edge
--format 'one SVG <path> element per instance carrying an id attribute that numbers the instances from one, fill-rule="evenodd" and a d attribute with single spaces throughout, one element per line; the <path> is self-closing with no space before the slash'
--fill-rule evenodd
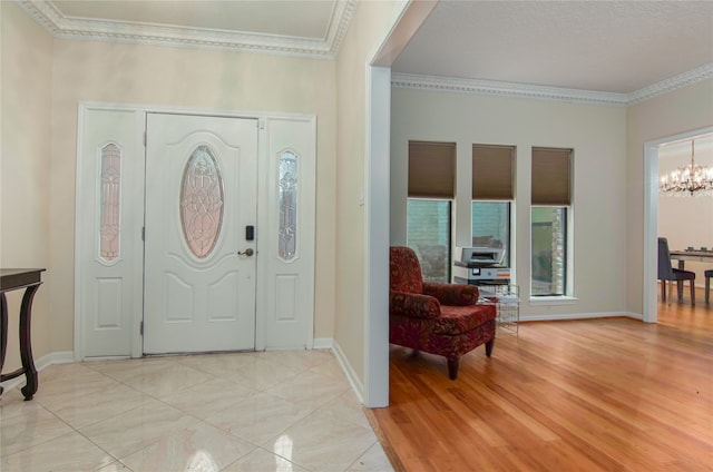
<path id="1" fill-rule="evenodd" d="M 32 298 L 37 289 L 42 284 L 40 275 L 43 268 L 2 268 L 0 269 L 0 322 L 2 332 L 0 333 L 0 382 L 19 377 L 25 374 L 27 384 L 21 389 L 25 400 L 32 400 L 37 392 L 37 368 L 32 360 L 32 343 L 30 341 L 30 321 L 32 318 Z M 20 360 L 22 367 L 9 374 L 2 374 L 4 365 L 4 355 L 8 350 L 8 301 L 4 296 L 6 292 L 25 288 L 22 296 L 22 305 L 20 306 Z M 0 386 L 2 394 L 2 386 Z"/>

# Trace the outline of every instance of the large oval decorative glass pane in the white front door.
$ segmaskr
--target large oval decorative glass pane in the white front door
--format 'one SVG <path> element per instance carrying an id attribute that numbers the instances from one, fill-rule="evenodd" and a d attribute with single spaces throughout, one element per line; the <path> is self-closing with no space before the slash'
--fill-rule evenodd
<path id="1" fill-rule="evenodd" d="M 198 146 L 188 158 L 180 184 L 180 226 L 191 252 L 207 257 L 223 225 L 223 178 L 207 146 Z"/>

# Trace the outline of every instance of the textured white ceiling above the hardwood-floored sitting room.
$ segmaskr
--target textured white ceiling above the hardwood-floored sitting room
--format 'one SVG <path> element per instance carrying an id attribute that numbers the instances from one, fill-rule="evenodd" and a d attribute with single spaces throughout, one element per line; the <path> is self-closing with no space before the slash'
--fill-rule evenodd
<path id="1" fill-rule="evenodd" d="M 713 1 L 442 0 L 394 72 L 631 94 L 713 63 Z"/>

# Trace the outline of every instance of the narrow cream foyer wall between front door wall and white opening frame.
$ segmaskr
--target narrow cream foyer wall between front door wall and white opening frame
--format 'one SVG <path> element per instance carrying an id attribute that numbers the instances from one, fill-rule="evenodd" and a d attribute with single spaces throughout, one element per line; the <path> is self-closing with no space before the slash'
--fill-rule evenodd
<path id="1" fill-rule="evenodd" d="M 403 1 L 359 2 L 336 61 L 336 305 L 334 340 L 364 382 L 367 71 Z M 361 385 L 358 386 L 361 390 Z"/>

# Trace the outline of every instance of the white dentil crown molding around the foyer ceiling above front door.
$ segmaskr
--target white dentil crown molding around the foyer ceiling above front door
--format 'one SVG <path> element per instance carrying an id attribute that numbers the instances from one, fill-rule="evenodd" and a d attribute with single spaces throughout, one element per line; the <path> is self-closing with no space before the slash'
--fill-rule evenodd
<path id="1" fill-rule="evenodd" d="M 16 3 L 55 38 L 59 39 L 195 47 L 320 59 L 336 58 L 356 8 L 356 0 L 338 0 L 325 38 L 304 39 L 277 35 L 72 18 L 64 16 L 51 1 L 16 0 Z"/>

